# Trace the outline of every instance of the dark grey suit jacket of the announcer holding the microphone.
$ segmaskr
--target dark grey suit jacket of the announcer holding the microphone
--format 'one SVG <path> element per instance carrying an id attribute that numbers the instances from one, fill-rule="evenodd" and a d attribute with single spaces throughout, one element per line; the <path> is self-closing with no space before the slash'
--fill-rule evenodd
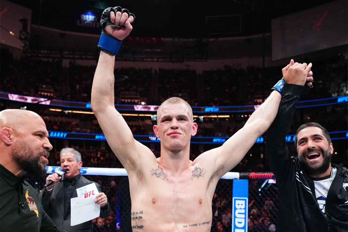
<path id="1" fill-rule="evenodd" d="M 84 176 L 81 176 L 79 181 L 76 184 L 76 189 L 83 187 L 88 184 L 95 183 L 93 181 L 89 181 Z M 95 183 L 99 192 L 101 191 L 101 186 L 98 183 Z M 60 228 L 70 232 L 92 232 L 92 220 L 70 226 L 70 207 L 64 212 L 64 184 L 63 182 L 59 182 L 56 186 L 53 187 L 52 191 L 47 191 L 43 189 L 40 194 L 40 199 L 42 203 L 42 207 L 45 211 L 50 211 L 50 218 L 52 221 Z M 77 192 L 74 191 L 72 196 L 77 197 Z M 104 211 L 102 208 L 100 209 L 100 217 L 108 217 L 111 211 L 110 204 L 108 202 L 108 208 Z"/>

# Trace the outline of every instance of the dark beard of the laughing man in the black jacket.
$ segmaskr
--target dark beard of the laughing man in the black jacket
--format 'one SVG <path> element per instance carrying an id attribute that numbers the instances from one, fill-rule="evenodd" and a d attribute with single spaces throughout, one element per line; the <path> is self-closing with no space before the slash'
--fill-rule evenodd
<path id="1" fill-rule="evenodd" d="M 311 152 L 308 151 L 302 155 L 299 155 L 299 161 L 300 164 L 303 168 L 303 170 L 308 174 L 308 175 L 318 175 L 318 174 L 322 174 L 325 173 L 325 171 L 330 167 L 330 162 L 331 162 L 331 151 L 330 151 L 330 147 L 324 151 L 323 149 L 320 149 L 321 153 L 323 154 L 323 162 L 319 167 L 311 167 L 308 165 L 308 163 L 306 162 L 306 153 Z"/>

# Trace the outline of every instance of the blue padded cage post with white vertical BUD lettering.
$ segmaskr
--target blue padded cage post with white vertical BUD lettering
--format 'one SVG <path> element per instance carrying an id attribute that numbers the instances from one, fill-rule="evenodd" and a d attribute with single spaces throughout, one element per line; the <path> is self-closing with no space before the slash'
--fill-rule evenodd
<path id="1" fill-rule="evenodd" d="M 248 231 L 248 180 L 233 180 L 232 232 Z"/>

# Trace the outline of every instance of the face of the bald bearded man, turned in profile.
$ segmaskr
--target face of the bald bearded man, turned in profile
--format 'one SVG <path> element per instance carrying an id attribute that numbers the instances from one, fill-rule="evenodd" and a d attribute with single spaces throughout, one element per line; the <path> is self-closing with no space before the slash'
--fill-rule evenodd
<path id="1" fill-rule="evenodd" d="M 20 131 L 16 131 L 18 141 L 13 145 L 11 154 L 22 170 L 45 177 L 48 151 L 52 150 L 45 122 L 41 117 L 28 117 L 21 127 Z"/>

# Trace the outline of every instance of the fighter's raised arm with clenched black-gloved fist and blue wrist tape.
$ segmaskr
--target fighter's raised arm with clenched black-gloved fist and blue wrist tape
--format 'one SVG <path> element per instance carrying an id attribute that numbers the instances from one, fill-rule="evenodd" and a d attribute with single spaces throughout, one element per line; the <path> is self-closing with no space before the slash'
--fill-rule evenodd
<path id="1" fill-rule="evenodd" d="M 137 155 L 141 146 L 133 138 L 132 131 L 114 106 L 114 63 L 115 55 L 132 31 L 130 23 L 134 15 L 121 7 L 109 7 L 101 18 L 102 34 L 98 43 L 101 49 L 92 86 L 91 107 L 111 149 L 125 165 L 129 155 Z M 135 157 L 134 157 L 135 158 Z"/>

